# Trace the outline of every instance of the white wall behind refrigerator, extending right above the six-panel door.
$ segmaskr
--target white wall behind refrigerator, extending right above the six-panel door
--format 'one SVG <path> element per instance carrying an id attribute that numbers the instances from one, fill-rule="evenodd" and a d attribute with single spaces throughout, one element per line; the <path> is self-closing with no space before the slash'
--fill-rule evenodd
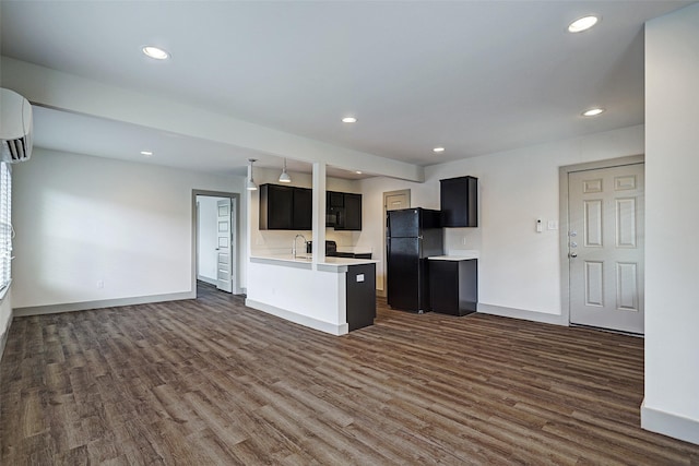
<path id="1" fill-rule="evenodd" d="M 643 127 L 637 126 L 531 147 L 465 158 L 425 169 L 424 184 L 388 178 L 362 183 L 365 194 L 364 236 L 371 237 L 377 287 L 383 287 L 382 193 L 411 189 L 413 207 L 439 208 L 439 180 L 478 178 L 478 228 L 447 229 L 446 249 L 478 250 L 479 303 L 526 311 L 519 316 L 560 314 L 560 254 L 556 230 L 535 232 L 535 220 L 558 218 L 560 166 L 643 153 Z M 463 237 L 466 244 L 462 243 Z M 517 315 L 517 314 L 516 314 Z"/>

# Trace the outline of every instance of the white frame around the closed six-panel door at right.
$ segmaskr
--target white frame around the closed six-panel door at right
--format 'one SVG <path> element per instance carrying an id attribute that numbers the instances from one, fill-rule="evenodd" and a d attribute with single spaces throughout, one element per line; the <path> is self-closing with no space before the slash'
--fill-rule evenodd
<path id="1" fill-rule="evenodd" d="M 574 171 L 597 170 L 623 167 L 625 165 L 645 164 L 645 155 L 566 165 L 558 168 L 558 243 L 560 256 L 560 313 L 564 325 L 570 326 L 570 268 L 568 262 L 568 175 Z"/>

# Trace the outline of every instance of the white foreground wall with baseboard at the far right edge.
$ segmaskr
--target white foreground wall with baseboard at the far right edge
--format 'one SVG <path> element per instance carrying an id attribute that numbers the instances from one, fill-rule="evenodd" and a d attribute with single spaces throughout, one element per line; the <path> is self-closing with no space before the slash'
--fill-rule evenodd
<path id="1" fill-rule="evenodd" d="M 645 26 L 644 428 L 699 443 L 699 4 Z"/>

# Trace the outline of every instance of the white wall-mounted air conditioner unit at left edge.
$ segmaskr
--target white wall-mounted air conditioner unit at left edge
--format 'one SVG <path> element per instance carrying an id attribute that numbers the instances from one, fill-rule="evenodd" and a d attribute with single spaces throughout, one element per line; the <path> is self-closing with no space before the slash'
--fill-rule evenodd
<path id="1" fill-rule="evenodd" d="M 32 156 L 32 106 L 14 91 L 0 87 L 0 160 L 16 164 Z"/>

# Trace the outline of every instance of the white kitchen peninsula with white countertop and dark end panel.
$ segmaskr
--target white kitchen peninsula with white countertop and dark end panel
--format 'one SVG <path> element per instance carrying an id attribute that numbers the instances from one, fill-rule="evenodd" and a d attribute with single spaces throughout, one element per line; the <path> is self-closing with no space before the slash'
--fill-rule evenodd
<path id="1" fill-rule="evenodd" d="M 371 325 L 376 263 L 368 259 L 252 254 L 246 306 L 333 335 Z"/>

